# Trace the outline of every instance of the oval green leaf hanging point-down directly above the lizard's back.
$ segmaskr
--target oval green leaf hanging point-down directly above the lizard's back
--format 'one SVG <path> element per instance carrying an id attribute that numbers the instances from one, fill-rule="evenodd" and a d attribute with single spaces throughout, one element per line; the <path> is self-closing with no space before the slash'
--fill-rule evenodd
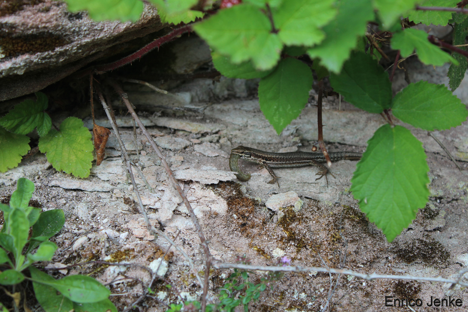
<path id="1" fill-rule="evenodd" d="M 295 58 L 285 58 L 258 85 L 260 109 L 278 134 L 306 106 L 314 77 L 310 68 Z"/>

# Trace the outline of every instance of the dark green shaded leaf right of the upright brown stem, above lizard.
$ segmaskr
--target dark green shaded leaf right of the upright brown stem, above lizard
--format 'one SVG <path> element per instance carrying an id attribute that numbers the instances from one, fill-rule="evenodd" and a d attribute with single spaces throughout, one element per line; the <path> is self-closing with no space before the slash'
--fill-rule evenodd
<path id="1" fill-rule="evenodd" d="M 352 52 L 341 73 L 330 74 L 330 84 L 346 101 L 370 113 L 380 114 L 392 103 L 392 84 L 388 74 L 363 52 Z"/>

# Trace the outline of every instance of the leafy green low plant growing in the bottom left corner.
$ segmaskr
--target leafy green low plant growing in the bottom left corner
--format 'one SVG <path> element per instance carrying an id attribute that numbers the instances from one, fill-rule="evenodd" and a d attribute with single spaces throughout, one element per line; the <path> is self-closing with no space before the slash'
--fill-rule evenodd
<path id="1" fill-rule="evenodd" d="M 10 287 L 9 293 L 14 294 L 23 287 L 24 280 L 29 280 L 45 312 L 117 312 L 108 298 L 110 290 L 94 278 L 72 275 L 56 280 L 33 266 L 51 260 L 57 246 L 49 239 L 65 223 L 61 209 L 41 212 L 40 208 L 29 207 L 33 192 L 34 183 L 20 178 L 9 205 L 0 203 L 4 218 L 0 231 L 0 284 Z"/>

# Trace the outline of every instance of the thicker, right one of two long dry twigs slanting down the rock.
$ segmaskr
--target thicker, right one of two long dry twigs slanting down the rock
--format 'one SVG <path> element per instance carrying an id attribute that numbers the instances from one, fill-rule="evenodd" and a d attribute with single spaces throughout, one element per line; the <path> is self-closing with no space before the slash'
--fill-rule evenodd
<path id="1" fill-rule="evenodd" d="M 135 113 L 135 110 L 133 110 L 132 108 L 132 105 L 130 104 L 130 101 L 128 101 L 128 99 L 126 98 L 126 96 L 124 96 L 124 90 L 122 90 L 122 87 L 120 87 L 115 81 L 113 80 L 110 80 L 110 85 L 112 87 L 114 87 L 114 89 L 117 91 L 118 94 L 121 94 L 121 98 L 122 100 L 124 101 L 125 105 L 127 106 L 127 109 L 129 110 L 129 112 L 132 114 L 132 117 L 135 119 L 135 121 L 138 123 L 139 127 L 140 127 L 140 130 L 143 132 L 143 134 L 146 136 L 146 138 L 148 139 L 149 143 L 151 144 L 151 146 L 153 147 L 154 151 L 156 152 L 156 154 L 158 155 L 159 159 L 161 160 L 161 163 L 163 165 L 163 167 L 166 169 L 166 172 L 168 173 L 168 177 L 169 177 L 169 180 L 172 182 L 172 184 L 174 185 L 174 187 L 176 188 L 177 192 L 179 193 L 179 195 L 182 197 L 182 200 L 183 200 L 183 203 L 185 204 L 185 207 L 187 207 L 187 210 L 189 211 L 189 214 L 190 214 L 190 218 L 193 222 L 193 224 L 195 225 L 195 229 L 196 229 L 196 232 L 198 234 L 198 238 L 200 239 L 200 243 L 203 247 L 203 250 L 205 252 L 205 256 L 206 256 L 206 259 L 212 259 L 212 255 L 210 253 L 210 249 L 208 247 L 208 244 L 206 242 L 206 239 L 205 239 L 205 234 L 203 233 L 202 231 L 202 228 L 200 226 L 200 224 L 198 223 L 198 219 L 197 219 L 197 216 L 195 215 L 195 212 L 193 211 L 193 208 L 192 206 L 190 205 L 189 203 L 189 200 L 187 199 L 187 196 L 185 196 L 185 194 L 183 194 L 183 190 L 181 189 L 178 181 L 176 180 L 176 178 L 174 177 L 174 174 L 172 173 L 171 169 L 169 168 L 169 165 L 166 161 L 166 159 L 164 158 L 164 155 L 162 154 L 161 150 L 159 149 L 159 147 L 154 143 L 154 139 L 151 137 L 151 135 L 149 134 L 149 132 L 146 130 L 145 126 L 143 125 L 143 123 L 141 122 L 141 120 L 138 118 L 137 114 Z M 146 213 L 145 213 L 146 214 Z"/>

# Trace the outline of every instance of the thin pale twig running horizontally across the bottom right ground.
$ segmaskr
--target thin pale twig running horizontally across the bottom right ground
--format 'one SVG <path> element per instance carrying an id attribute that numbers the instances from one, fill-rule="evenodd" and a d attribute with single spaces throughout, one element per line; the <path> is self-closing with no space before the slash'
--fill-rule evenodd
<path id="1" fill-rule="evenodd" d="M 338 268 L 321 268 L 321 267 L 277 267 L 277 266 L 262 266 L 262 265 L 249 265 L 242 263 L 223 263 L 219 261 L 212 262 L 213 268 L 238 268 L 242 270 L 260 270 L 260 271 L 269 271 L 269 272 L 325 272 L 332 274 L 345 274 L 351 276 L 357 276 L 363 278 L 367 281 L 373 281 L 377 278 L 388 278 L 394 280 L 404 280 L 404 281 L 428 281 L 428 282 L 440 282 L 440 283 L 450 283 L 450 284 L 460 284 L 461 286 L 468 287 L 468 283 L 463 283 L 458 280 L 448 279 L 443 277 L 429 277 L 429 276 L 412 276 L 412 275 L 387 275 L 387 274 L 366 274 L 359 273 L 351 270 L 338 269 Z"/>

